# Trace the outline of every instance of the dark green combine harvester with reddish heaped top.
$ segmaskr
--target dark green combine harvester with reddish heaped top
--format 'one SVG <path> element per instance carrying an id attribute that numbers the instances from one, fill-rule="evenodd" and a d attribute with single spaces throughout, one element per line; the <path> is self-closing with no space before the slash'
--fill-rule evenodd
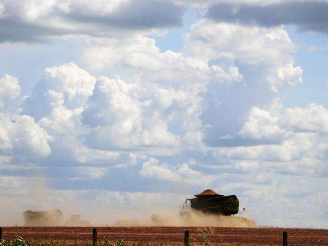
<path id="1" fill-rule="evenodd" d="M 239 200 L 236 195 L 223 196 L 211 189 L 207 189 L 195 195 L 195 197 L 186 199 L 185 204 L 181 206 L 181 215 L 188 214 L 193 210 L 216 215 L 233 215 L 239 212 Z M 188 201 L 190 203 L 187 203 Z"/>

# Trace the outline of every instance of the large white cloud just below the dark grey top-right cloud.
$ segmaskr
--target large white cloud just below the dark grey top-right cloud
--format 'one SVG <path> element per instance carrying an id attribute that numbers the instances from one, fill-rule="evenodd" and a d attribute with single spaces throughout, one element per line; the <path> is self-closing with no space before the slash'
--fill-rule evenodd
<path id="1" fill-rule="evenodd" d="M 296 50 L 283 26 L 260 28 L 202 19 L 185 35 L 183 54 L 203 61 L 227 63 L 234 61 L 257 65 L 267 73 L 272 91 L 284 84 L 302 82 L 301 67 L 294 67 L 290 53 Z M 233 70 L 235 73 L 236 68 Z M 235 75 L 236 76 L 236 75 Z M 237 79 L 240 79 L 237 75 Z"/>

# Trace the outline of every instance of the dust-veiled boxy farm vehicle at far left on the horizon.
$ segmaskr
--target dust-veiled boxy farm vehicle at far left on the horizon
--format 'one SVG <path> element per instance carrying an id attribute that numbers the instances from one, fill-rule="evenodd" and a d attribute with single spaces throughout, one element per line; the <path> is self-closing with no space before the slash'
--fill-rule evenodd
<path id="1" fill-rule="evenodd" d="M 25 211 L 23 217 L 25 220 L 24 226 L 57 226 L 60 218 L 63 216 L 61 211 Z"/>

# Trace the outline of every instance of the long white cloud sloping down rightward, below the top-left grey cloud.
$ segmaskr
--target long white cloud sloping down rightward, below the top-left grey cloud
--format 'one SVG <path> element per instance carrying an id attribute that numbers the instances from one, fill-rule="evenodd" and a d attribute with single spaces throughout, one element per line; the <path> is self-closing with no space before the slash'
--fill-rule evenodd
<path id="1" fill-rule="evenodd" d="M 161 83 L 206 83 L 208 80 L 234 83 L 243 78 L 238 67 L 225 64 L 209 66 L 206 60 L 183 53 L 160 52 L 155 39 L 136 35 L 129 38 L 98 40 L 84 52 L 81 61 L 94 71 L 121 69 L 138 73 L 143 80 Z"/>

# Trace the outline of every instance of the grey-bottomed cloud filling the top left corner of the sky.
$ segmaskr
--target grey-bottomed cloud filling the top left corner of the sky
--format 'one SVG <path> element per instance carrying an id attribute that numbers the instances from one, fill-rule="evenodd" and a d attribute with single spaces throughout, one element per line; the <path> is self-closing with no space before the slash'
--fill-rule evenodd
<path id="1" fill-rule="evenodd" d="M 5 1 L 0 13 L 0 40 L 28 42 L 80 34 L 124 36 L 179 26 L 183 9 L 162 0 L 15 0 Z"/>

